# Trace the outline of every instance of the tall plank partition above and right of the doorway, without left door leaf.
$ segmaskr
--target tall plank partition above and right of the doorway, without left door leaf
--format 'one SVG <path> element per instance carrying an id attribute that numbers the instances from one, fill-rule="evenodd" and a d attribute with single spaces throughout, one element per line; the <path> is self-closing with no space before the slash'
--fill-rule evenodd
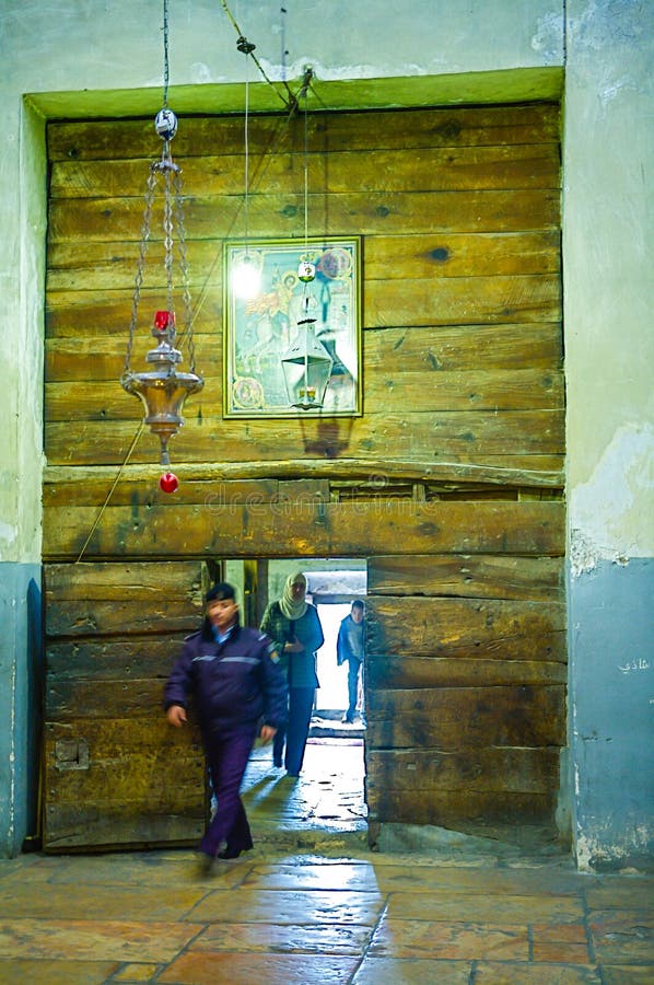
<path id="1" fill-rule="evenodd" d="M 250 120 L 249 233 L 303 235 L 302 119 Z M 373 823 L 551 818 L 564 744 L 559 107 L 310 116 L 310 235 L 363 243 L 363 415 L 224 420 L 243 120 L 179 121 L 205 390 L 157 487 L 122 370 L 152 120 L 48 126 L 44 557 L 370 558 Z M 156 237 L 155 237 L 156 239 Z M 161 244 L 140 326 L 163 306 Z M 151 279 L 149 279 L 151 278 Z M 129 455 L 129 461 L 126 462 Z"/>

